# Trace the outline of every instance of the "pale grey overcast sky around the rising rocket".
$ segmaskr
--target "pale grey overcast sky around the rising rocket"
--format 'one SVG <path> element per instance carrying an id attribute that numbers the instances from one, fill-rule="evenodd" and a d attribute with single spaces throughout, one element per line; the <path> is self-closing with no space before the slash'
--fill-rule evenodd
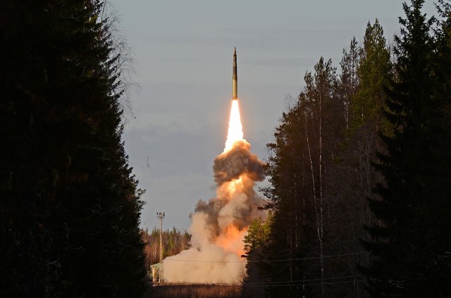
<path id="1" fill-rule="evenodd" d="M 425 11 L 433 13 L 432 1 Z M 133 51 L 140 85 L 125 127 L 130 165 L 147 192 L 142 226 L 190 225 L 199 199 L 214 197 L 211 167 L 226 142 L 237 47 L 238 97 L 245 139 L 260 159 L 303 77 L 320 56 L 339 66 L 353 36 L 375 18 L 388 42 L 399 31 L 402 1 L 111 0 L 119 34 Z M 148 165 L 149 163 L 149 165 Z"/>

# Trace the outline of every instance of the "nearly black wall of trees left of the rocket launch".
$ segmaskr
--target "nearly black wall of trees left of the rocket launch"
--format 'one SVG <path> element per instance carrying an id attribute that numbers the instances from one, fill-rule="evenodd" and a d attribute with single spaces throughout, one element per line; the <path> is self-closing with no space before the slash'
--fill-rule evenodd
<path id="1" fill-rule="evenodd" d="M 124 44 L 100 0 L 0 5 L 0 297 L 141 297 Z"/>

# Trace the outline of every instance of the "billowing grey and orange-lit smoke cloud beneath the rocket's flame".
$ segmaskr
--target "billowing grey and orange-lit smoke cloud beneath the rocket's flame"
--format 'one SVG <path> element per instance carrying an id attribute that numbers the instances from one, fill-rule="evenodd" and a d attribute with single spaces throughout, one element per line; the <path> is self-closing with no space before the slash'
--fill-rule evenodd
<path id="1" fill-rule="evenodd" d="M 245 269 L 243 240 L 249 223 L 264 217 L 254 183 L 264 179 L 263 163 L 241 139 L 214 160 L 216 198 L 200 200 L 189 232 L 191 248 L 163 261 L 164 279 L 183 283 L 239 283 Z"/>

